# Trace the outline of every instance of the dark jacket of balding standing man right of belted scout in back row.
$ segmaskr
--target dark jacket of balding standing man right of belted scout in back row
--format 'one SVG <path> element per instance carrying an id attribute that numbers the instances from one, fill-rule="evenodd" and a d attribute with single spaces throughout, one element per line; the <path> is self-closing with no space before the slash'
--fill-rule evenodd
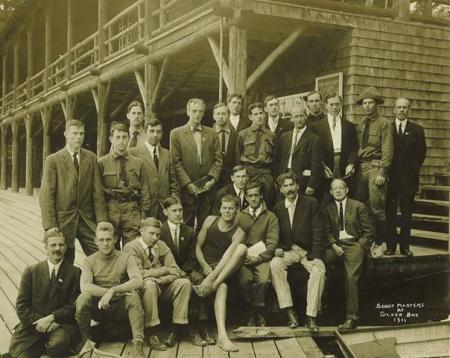
<path id="1" fill-rule="evenodd" d="M 279 139 L 275 160 L 275 172 L 277 175 L 287 171 L 293 134 L 294 131 L 289 131 L 284 133 Z M 301 190 L 304 190 L 307 186 L 317 190 L 320 186 L 323 176 L 321 146 L 320 138 L 308 128 L 298 140 L 292 157 L 291 169 L 300 180 Z"/>

